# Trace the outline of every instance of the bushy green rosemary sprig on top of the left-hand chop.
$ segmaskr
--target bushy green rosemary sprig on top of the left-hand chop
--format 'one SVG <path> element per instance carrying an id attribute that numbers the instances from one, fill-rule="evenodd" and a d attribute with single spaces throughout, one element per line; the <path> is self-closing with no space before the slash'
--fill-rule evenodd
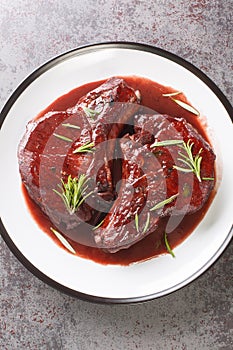
<path id="1" fill-rule="evenodd" d="M 62 186 L 58 185 L 61 192 L 53 189 L 53 191 L 62 198 L 70 214 L 74 214 L 85 199 L 93 193 L 93 191 L 91 191 L 84 195 L 88 187 L 87 182 L 88 179 L 84 174 L 81 174 L 78 178 L 72 178 L 71 175 L 69 175 L 67 183 L 61 179 Z"/>

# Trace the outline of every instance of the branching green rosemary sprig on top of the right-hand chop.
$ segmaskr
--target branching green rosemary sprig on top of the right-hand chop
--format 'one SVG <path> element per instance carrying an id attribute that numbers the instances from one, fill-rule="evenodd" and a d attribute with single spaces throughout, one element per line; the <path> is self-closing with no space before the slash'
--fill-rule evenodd
<path id="1" fill-rule="evenodd" d="M 198 178 L 198 181 L 201 182 L 201 161 L 202 161 L 202 157 L 200 156 L 201 152 L 202 152 L 202 148 L 200 148 L 199 152 L 196 154 L 196 156 L 194 157 L 192 154 L 192 148 L 193 148 L 194 142 L 191 143 L 190 140 L 188 140 L 187 143 L 183 142 L 183 145 L 181 146 L 187 156 L 181 152 L 179 152 L 179 155 L 182 158 L 178 158 L 179 161 L 181 161 L 182 163 L 184 163 L 187 167 L 183 168 L 183 167 L 179 167 L 174 165 L 173 168 L 179 171 L 182 171 L 184 173 L 190 173 L 193 172 L 196 177 Z"/>

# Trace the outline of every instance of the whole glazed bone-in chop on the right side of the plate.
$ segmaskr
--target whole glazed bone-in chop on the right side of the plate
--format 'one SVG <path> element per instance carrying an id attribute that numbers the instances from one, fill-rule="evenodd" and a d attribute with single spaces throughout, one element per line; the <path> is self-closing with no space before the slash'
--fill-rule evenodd
<path id="1" fill-rule="evenodd" d="M 120 141 L 123 160 L 118 198 L 94 232 L 96 244 L 111 253 L 151 233 L 160 217 L 197 211 L 214 186 L 215 155 L 187 121 L 137 115 L 134 130 Z M 200 171 L 191 169 L 191 159 L 200 163 Z"/>

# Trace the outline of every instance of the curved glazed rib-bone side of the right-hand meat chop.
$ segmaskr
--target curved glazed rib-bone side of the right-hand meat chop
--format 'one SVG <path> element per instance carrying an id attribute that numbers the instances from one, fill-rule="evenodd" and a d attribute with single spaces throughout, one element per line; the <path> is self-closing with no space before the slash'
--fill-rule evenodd
<path id="1" fill-rule="evenodd" d="M 122 138 L 120 147 L 123 159 L 118 197 L 94 231 L 97 246 L 111 253 L 130 247 L 157 227 L 159 215 L 150 212 L 154 203 L 151 184 L 155 191 L 165 192 L 163 174 L 157 172 L 154 155 L 130 137 Z"/>

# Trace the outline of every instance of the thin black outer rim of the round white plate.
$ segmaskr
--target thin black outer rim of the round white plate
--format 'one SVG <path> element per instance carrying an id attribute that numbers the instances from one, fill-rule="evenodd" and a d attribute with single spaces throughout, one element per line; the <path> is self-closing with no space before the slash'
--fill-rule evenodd
<path id="1" fill-rule="evenodd" d="M 76 55 L 83 55 L 86 53 L 99 51 L 99 50 L 106 50 L 109 48 L 117 48 L 117 49 L 131 49 L 131 50 L 137 50 L 137 51 L 145 51 L 150 52 L 155 55 L 167 58 L 180 66 L 183 66 L 190 72 L 192 72 L 196 77 L 198 77 L 200 80 L 202 80 L 209 88 L 212 90 L 212 92 L 218 97 L 220 102 L 223 104 L 224 108 L 226 109 L 230 119 L 233 121 L 233 108 L 230 104 L 230 102 L 227 100 L 226 96 L 222 93 L 222 91 L 217 87 L 217 85 L 205 74 L 203 73 L 199 68 L 195 67 L 193 64 L 189 63 L 188 61 L 184 60 L 183 58 L 168 52 L 164 49 L 154 47 L 151 45 L 147 45 L 144 43 L 135 43 L 135 42 L 127 42 L 127 41 L 119 41 L 119 42 L 102 42 L 102 43 L 94 43 L 90 45 L 80 46 L 75 49 L 72 49 L 68 52 L 64 52 L 59 56 L 56 56 L 55 58 L 52 58 L 48 62 L 44 63 L 42 66 L 34 70 L 12 93 L 10 98 L 5 103 L 0 116 L 0 126 L 3 125 L 4 120 L 6 119 L 11 107 L 14 105 L 18 97 L 22 94 L 22 92 L 40 75 L 42 75 L 44 72 L 49 70 L 50 68 L 54 67 L 55 65 L 59 64 L 61 61 L 70 59 L 72 56 Z M 2 220 L 0 219 L 0 233 L 6 242 L 9 249 L 13 252 L 13 254 L 16 256 L 16 258 L 37 278 L 48 284 L 49 286 L 58 289 L 59 291 L 68 294 L 70 296 L 89 301 L 89 302 L 95 302 L 95 303 L 102 303 L 102 304 L 132 304 L 132 303 L 139 303 L 139 302 L 145 302 L 150 301 L 165 295 L 168 295 L 170 293 L 174 293 L 178 289 L 181 289 L 185 286 L 187 286 L 189 283 L 200 277 L 205 271 L 208 270 L 208 268 L 213 265 L 218 258 L 221 256 L 223 251 L 226 249 L 227 245 L 229 244 L 231 240 L 231 233 L 232 228 L 230 229 L 228 235 L 226 236 L 224 242 L 219 247 L 219 249 L 215 252 L 215 254 L 212 256 L 212 258 L 205 263 L 204 266 L 202 266 L 198 271 L 196 271 L 194 274 L 189 276 L 186 280 L 178 283 L 175 286 L 172 286 L 166 290 L 163 290 L 159 293 L 153 293 L 150 295 L 140 296 L 140 297 L 130 297 L 130 298 L 108 298 L 108 297 L 99 297 L 95 295 L 89 295 L 84 294 L 82 292 L 70 289 L 56 281 L 54 281 L 52 278 L 48 277 L 44 273 L 42 273 L 39 269 L 37 269 L 22 253 L 21 251 L 16 247 L 14 242 L 11 240 L 10 235 L 8 234 L 7 230 L 4 227 L 4 224 Z"/>

